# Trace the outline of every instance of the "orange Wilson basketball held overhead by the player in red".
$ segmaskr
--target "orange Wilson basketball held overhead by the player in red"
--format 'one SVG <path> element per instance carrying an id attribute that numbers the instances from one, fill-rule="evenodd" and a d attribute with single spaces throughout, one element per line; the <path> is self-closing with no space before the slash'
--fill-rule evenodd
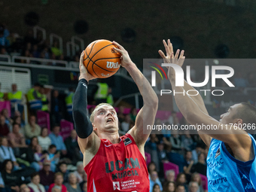
<path id="1" fill-rule="evenodd" d="M 84 66 L 95 78 L 109 78 L 120 68 L 120 53 L 113 49 L 111 41 L 101 39 L 85 49 Z"/>

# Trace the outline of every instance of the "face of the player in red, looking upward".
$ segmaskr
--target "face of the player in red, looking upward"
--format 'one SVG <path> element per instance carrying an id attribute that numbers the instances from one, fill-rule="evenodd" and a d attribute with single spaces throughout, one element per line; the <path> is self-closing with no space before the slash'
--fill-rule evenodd
<path id="1" fill-rule="evenodd" d="M 106 129 L 116 131 L 118 130 L 117 112 L 111 106 L 102 105 L 94 115 L 93 124 L 96 130 L 100 132 Z"/>

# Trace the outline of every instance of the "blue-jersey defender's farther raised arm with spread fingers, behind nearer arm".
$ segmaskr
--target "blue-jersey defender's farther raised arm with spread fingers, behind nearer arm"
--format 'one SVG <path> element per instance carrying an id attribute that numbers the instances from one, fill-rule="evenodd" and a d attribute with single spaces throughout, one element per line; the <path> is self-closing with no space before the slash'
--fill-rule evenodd
<path id="1" fill-rule="evenodd" d="M 181 50 L 181 56 L 178 61 L 178 55 L 180 53 L 180 50 L 177 50 L 174 56 L 173 53 L 173 47 L 172 47 L 172 43 L 171 41 L 168 39 L 167 44 L 166 41 L 163 40 L 163 45 L 166 49 L 166 55 L 163 53 L 162 50 L 159 50 L 159 54 L 160 56 L 163 57 L 163 62 L 165 63 L 175 63 L 178 66 L 182 67 L 183 63 L 184 63 L 184 50 Z M 171 61 L 172 59 L 172 61 Z M 195 90 L 194 87 L 191 87 L 189 84 L 187 84 L 187 81 L 184 80 L 184 90 L 187 93 L 187 90 Z M 197 94 L 197 96 L 190 96 L 191 99 L 194 100 L 194 102 L 197 104 L 197 106 L 201 109 L 201 111 L 203 111 L 205 114 L 208 114 L 208 111 L 206 110 L 206 105 L 203 102 L 203 98 L 200 94 Z M 205 142 L 205 144 L 209 147 L 212 137 L 208 136 L 204 133 L 202 133 L 200 130 L 198 131 L 198 134 L 200 135 L 201 139 L 203 140 L 203 142 Z"/>

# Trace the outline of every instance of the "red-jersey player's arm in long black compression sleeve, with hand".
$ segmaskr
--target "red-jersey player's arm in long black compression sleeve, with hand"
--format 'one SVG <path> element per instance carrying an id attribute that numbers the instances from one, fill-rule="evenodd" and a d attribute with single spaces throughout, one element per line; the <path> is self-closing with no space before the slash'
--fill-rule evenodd
<path id="1" fill-rule="evenodd" d="M 100 142 L 100 139 L 93 133 L 93 125 L 87 117 L 87 86 L 94 77 L 84 67 L 84 51 L 81 53 L 79 69 L 80 77 L 73 99 L 73 118 L 75 130 L 78 133 L 78 145 L 84 154 L 87 148 L 96 147 L 94 142 Z"/>

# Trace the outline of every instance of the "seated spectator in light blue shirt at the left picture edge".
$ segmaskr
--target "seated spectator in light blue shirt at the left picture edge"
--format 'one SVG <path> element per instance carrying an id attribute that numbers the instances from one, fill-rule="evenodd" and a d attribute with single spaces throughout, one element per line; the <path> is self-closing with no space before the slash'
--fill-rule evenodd
<path id="1" fill-rule="evenodd" d="M 2 137 L 0 146 L 0 163 L 3 163 L 5 160 L 11 160 L 14 163 L 14 166 L 19 167 L 19 164 L 14 156 L 13 149 L 8 147 L 7 137 Z"/>

